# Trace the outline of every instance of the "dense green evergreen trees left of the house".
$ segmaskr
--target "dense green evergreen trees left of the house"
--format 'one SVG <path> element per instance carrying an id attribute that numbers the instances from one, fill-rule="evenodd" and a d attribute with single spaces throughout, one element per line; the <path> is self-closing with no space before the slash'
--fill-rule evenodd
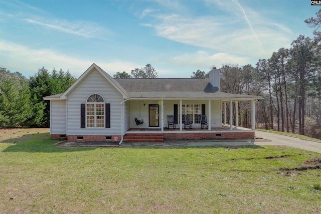
<path id="1" fill-rule="evenodd" d="M 63 93 L 76 79 L 69 71 L 42 67 L 28 80 L 0 68 L 0 128 L 49 127 L 50 105 L 43 97 Z"/>

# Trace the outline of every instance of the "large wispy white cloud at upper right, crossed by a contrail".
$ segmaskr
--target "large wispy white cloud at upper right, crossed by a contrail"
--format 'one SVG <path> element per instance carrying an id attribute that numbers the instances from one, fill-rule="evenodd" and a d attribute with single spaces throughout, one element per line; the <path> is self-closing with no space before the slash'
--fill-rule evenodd
<path id="1" fill-rule="evenodd" d="M 246 9 L 245 13 L 237 1 L 230 7 L 221 1 L 206 1 L 206 4 L 216 6 L 216 10 L 224 13 L 198 17 L 183 13 L 158 13 L 150 15 L 157 22 L 149 23 L 149 26 L 160 37 L 230 55 L 267 57 L 284 47 L 284 43 L 291 42 L 288 27 L 269 22 L 251 9 Z"/>

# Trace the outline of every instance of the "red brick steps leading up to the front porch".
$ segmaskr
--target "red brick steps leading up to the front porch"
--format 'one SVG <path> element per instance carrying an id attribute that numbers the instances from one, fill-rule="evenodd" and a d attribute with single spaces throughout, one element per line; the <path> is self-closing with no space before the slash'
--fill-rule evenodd
<path id="1" fill-rule="evenodd" d="M 126 133 L 123 142 L 164 142 L 163 133 Z"/>

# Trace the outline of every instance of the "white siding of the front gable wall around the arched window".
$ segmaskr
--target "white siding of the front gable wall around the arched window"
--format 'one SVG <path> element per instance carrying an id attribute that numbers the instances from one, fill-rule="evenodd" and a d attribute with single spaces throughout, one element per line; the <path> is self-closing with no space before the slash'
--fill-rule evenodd
<path id="1" fill-rule="evenodd" d="M 91 94 L 99 94 L 110 103 L 110 128 L 80 128 L 80 104 Z M 122 101 L 122 94 L 94 69 L 68 95 L 68 135 L 120 135 Z"/>

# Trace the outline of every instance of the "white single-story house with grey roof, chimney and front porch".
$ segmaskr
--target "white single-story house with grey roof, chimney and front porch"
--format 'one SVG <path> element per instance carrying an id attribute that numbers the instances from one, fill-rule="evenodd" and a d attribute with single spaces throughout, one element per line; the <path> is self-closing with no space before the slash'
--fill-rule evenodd
<path id="1" fill-rule="evenodd" d="M 120 144 L 253 139 L 255 102 L 261 97 L 223 93 L 220 70 L 213 68 L 209 74 L 209 78 L 113 79 L 92 64 L 64 93 L 44 97 L 50 100 L 51 137 Z M 226 121 L 226 106 L 240 101 L 252 103 L 252 129 L 239 127 L 238 117 L 234 126 L 227 125 L 233 124 L 233 113 Z M 207 124 L 201 124 L 201 118 Z"/>

